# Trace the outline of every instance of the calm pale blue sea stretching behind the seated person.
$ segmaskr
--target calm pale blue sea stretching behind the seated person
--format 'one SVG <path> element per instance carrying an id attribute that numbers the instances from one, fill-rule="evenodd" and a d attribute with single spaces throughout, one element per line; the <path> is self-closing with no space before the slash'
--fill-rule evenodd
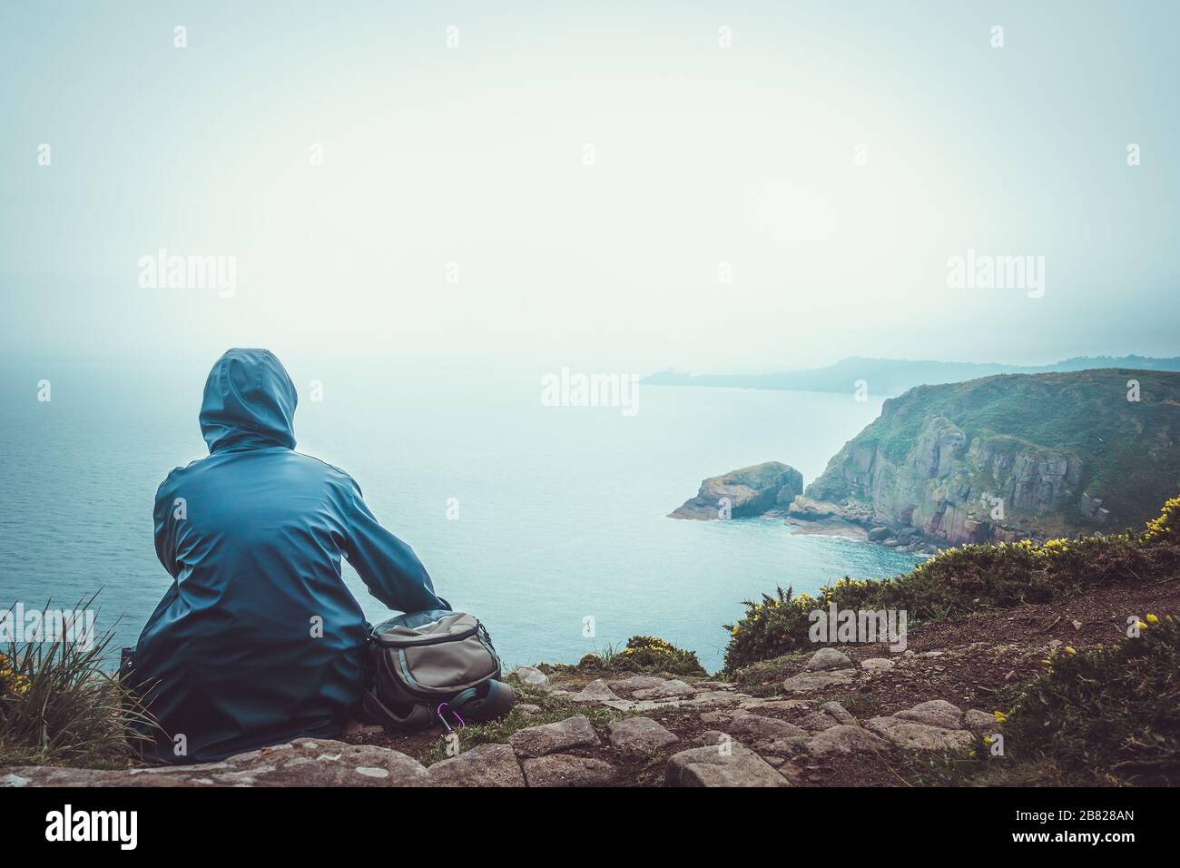
<path id="1" fill-rule="evenodd" d="M 576 660 L 635 633 L 695 650 L 775 585 L 905 572 L 910 555 L 793 535 L 781 521 L 664 516 L 704 476 L 782 461 L 814 478 L 880 402 L 851 396 L 641 386 L 640 412 L 544 407 L 540 373 L 432 376 L 286 360 L 299 449 L 348 470 L 438 592 L 476 613 L 507 664 Z M 152 548 L 156 487 L 204 455 L 208 364 L 21 365 L 0 379 L 0 603 L 72 606 L 101 587 L 99 627 L 130 645 L 171 579 Z M 37 400 L 48 379 L 52 400 Z M 309 384 L 323 400 L 309 400 Z M 447 518 L 457 498 L 458 518 Z M 382 607 L 349 568 L 371 619 Z M 583 619 L 596 635 L 583 637 Z"/>

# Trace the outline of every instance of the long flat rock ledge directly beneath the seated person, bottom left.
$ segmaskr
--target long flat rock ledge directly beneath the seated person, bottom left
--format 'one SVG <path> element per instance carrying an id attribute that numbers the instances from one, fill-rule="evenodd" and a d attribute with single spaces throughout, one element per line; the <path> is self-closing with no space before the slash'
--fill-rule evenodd
<path id="1" fill-rule="evenodd" d="M 99 771 L 0 769 L 0 787 L 426 787 L 417 759 L 388 748 L 297 738 L 217 763 Z"/>

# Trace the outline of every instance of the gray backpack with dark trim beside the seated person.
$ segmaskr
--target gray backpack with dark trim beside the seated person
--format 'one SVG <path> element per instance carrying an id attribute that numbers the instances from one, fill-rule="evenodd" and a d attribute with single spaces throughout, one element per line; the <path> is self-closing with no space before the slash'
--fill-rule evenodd
<path id="1" fill-rule="evenodd" d="M 433 609 L 391 618 L 368 637 L 365 713 L 398 730 L 441 723 L 451 731 L 512 709 L 487 629 L 464 612 Z"/>

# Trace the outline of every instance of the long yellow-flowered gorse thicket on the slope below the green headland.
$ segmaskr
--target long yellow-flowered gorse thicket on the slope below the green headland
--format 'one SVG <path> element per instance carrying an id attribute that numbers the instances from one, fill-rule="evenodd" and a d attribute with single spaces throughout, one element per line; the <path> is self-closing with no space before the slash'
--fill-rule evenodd
<path id="1" fill-rule="evenodd" d="M 741 620 L 726 625 L 723 671 L 732 676 L 754 661 L 814 647 L 808 615 L 833 602 L 840 609 L 905 611 L 907 622 L 914 624 L 1048 602 L 1090 587 L 1158 581 L 1180 570 L 1178 528 L 1180 497 L 1168 501 L 1139 535 L 962 546 L 893 579 L 844 577 L 814 598 L 778 588 L 759 602 L 745 600 Z"/>

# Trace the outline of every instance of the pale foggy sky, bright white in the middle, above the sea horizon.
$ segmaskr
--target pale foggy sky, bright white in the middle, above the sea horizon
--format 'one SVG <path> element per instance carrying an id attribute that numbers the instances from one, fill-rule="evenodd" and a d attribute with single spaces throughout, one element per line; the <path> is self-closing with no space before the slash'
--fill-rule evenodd
<path id="1" fill-rule="evenodd" d="M 0 7 L 6 358 L 1180 353 L 1175 4 L 261 6 Z"/>

